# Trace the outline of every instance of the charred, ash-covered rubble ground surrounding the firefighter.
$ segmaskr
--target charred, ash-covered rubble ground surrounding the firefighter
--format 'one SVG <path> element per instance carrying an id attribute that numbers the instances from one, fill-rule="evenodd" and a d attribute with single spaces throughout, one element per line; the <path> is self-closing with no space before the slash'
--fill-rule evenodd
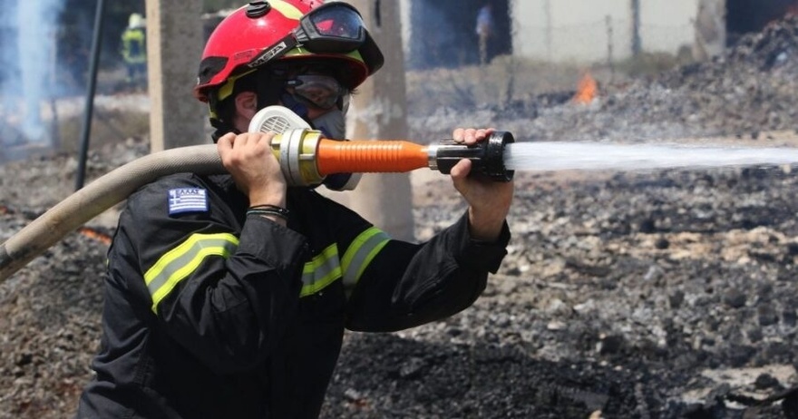
<path id="1" fill-rule="evenodd" d="M 414 138 L 468 122 L 520 141 L 796 146 L 798 19 L 724 58 L 606 83 L 589 105 L 570 95 L 434 110 L 411 96 L 410 122 Z M 146 151 L 102 144 L 88 178 Z M 0 167 L 0 239 L 65 198 L 76 167 Z M 323 417 L 798 417 L 796 169 L 517 173 L 510 254 L 485 294 L 442 322 L 348 334 Z M 464 206 L 445 178 L 412 178 L 425 239 Z M 113 219 L 90 225 L 112 233 Z M 105 250 L 70 234 L 0 285 L 0 418 L 73 414 L 99 345 Z"/>

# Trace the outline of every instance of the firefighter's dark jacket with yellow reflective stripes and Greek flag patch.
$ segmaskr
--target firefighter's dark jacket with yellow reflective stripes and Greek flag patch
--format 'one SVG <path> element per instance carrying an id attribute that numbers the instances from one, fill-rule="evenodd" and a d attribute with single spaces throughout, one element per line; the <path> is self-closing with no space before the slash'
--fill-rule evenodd
<path id="1" fill-rule="evenodd" d="M 462 217 L 424 244 L 288 190 L 287 228 L 228 175 L 172 175 L 131 195 L 108 253 L 103 336 L 79 418 L 312 418 L 345 328 L 442 319 L 480 296 L 510 233 Z M 369 374 L 364 371 L 364 374 Z"/>

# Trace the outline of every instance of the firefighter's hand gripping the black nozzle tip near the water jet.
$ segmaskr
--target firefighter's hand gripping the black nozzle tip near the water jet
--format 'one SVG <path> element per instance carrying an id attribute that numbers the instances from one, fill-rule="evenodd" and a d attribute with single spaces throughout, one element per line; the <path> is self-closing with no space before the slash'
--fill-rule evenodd
<path id="1" fill-rule="evenodd" d="M 467 145 L 485 141 L 494 129 L 457 128 L 452 134 L 456 142 Z M 452 168 L 454 188 L 468 201 L 468 220 L 473 239 L 499 239 L 504 219 L 510 212 L 513 183 L 490 180 L 482 176 L 468 176 L 472 162 L 463 159 Z"/>

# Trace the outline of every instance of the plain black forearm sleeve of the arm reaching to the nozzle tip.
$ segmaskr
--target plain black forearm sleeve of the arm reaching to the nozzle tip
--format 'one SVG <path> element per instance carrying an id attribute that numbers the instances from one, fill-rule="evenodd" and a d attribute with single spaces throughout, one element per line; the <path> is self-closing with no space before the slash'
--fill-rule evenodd
<path id="1" fill-rule="evenodd" d="M 421 245 L 391 240 L 357 281 L 347 327 L 395 331 L 450 317 L 482 294 L 507 254 L 507 224 L 494 243 L 472 239 L 463 215 Z"/>

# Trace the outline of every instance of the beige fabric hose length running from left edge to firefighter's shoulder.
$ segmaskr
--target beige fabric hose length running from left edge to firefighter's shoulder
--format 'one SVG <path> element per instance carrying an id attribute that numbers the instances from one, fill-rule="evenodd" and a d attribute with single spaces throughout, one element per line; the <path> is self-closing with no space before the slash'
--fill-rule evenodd
<path id="1" fill-rule="evenodd" d="M 189 171 L 203 175 L 227 172 L 215 144 L 196 145 L 141 157 L 75 191 L 0 245 L 0 282 L 141 186 L 161 176 Z"/>

